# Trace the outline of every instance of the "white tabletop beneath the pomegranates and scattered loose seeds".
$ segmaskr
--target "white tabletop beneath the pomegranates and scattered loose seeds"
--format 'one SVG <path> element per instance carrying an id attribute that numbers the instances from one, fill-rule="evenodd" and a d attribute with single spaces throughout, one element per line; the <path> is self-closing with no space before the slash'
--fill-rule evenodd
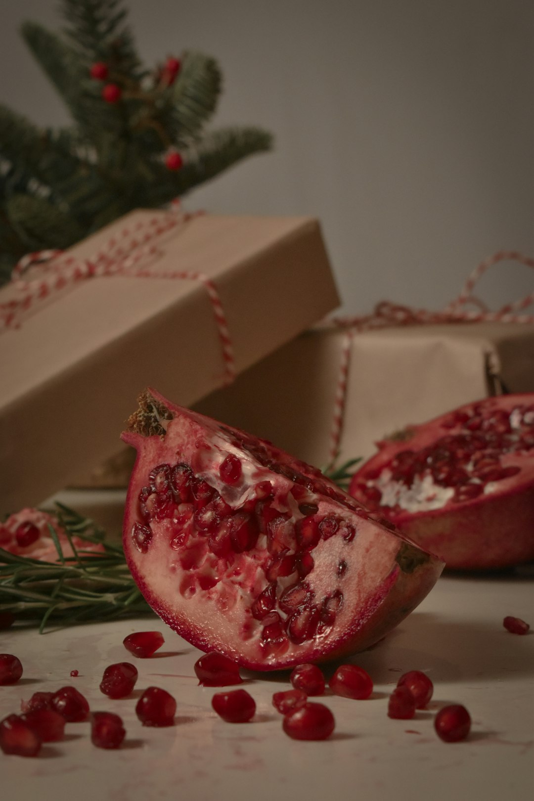
<path id="1" fill-rule="evenodd" d="M 512 614 L 534 623 L 534 575 L 445 576 L 412 615 L 375 648 L 353 661 L 369 671 L 367 701 L 326 694 L 336 728 L 323 742 L 297 742 L 282 731 L 273 692 L 289 689 L 287 674 L 247 674 L 255 698 L 251 723 L 224 723 L 211 710 L 217 691 L 199 687 L 199 651 L 162 622 L 140 618 L 55 630 L 0 632 L 0 652 L 16 654 L 24 675 L 0 687 L 0 718 L 18 711 L 36 690 L 73 684 L 93 710 L 122 715 L 126 740 L 118 751 L 90 743 L 88 723 L 68 723 L 66 739 L 34 759 L 0 753 L 2 798 L 10 801 L 273 801 L 273 799 L 534 799 L 534 635 L 509 634 Z M 162 652 L 135 659 L 126 634 L 157 629 Z M 130 698 L 98 690 L 111 662 L 135 662 L 139 682 Z M 70 678 L 70 670 L 78 678 Z M 424 670 L 435 686 L 429 710 L 409 721 L 387 718 L 387 695 L 406 670 Z M 178 702 L 175 726 L 142 727 L 135 702 L 156 685 Z M 139 688 L 139 689 L 138 689 Z M 432 718 L 446 703 L 463 703 L 472 733 L 443 743 Z"/>

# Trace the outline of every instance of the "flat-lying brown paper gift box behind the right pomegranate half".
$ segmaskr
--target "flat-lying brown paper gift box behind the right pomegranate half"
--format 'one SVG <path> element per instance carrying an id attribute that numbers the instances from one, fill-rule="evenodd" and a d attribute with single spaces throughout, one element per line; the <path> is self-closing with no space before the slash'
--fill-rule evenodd
<path id="1" fill-rule="evenodd" d="M 315 328 L 195 405 L 324 466 L 331 461 L 346 330 Z M 534 326 L 476 323 L 385 328 L 350 337 L 339 462 L 471 400 L 534 392 Z"/>

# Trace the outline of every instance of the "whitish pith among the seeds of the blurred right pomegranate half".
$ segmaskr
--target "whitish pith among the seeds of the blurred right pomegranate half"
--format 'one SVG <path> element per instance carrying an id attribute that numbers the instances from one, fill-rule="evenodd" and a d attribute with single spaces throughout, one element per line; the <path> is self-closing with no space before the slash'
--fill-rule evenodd
<path id="1" fill-rule="evenodd" d="M 479 429 L 475 429 L 472 432 L 466 428 L 466 424 L 468 424 L 473 417 L 476 417 L 477 415 L 480 416 L 481 408 L 482 407 L 480 405 L 473 405 L 470 408 L 467 407 L 462 409 L 461 411 L 465 413 L 467 419 L 461 424 L 450 425 L 454 415 L 457 415 L 460 410 L 444 417 L 441 423 L 444 430 L 444 437 L 451 435 L 480 435 Z M 486 417 L 491 417 L 491 413 L 486 414 Z M 506 434 L 504 448 L 501 450 L 498 461 L 496 461 L 496 466 L 517 466 L 520 468 L 520 465 L 517 464 L 517 460 L 514 459 L 514 455 L 520 452 L 524 453 L 522 437 L 524 437 L 525 433 L 534 431 L 534 410 L 531 407 L 525 409 L 520 405 L 516 405 L 508 413 L 508 423 L 509 433 Z M 420 429 L 423 428 L 424 427 L 420 427 Z M 427 446 L 428 442 L 425 441 L 424 447 L 418 449 L 413 442 L 408 441 L 405 448 L 413 449 L 414 455 L 416 455 L 424 451 Z M 447 446 L 440 445 L 440 440 L 437 440 L 434 444 L 434 447 L 437 449 L 438 447 L 446 448 Z M 396 449 L 396 453 L 399 453 L 403 449 L 404 448 L 399 446 Z M 490 452 L 492 449 L 495 450 L 495 444 L 490 443 L 487 451 Z M 479 459 L 484 457 L 484 448 L 480 448 L 476 452 L 476 456 Z M 393 457 L 393 460 L 394 458 L 395 457 Z M 450 461 L 453 466 L 460 467 L 468 474 L 468 481 L 464 482 L 464 486 L 483 485 L 480 495 L 488 496 L 492 493 L 495 493 L 498 489 L 500 489 L 504 481 L 507 481 L 507 477 L 504 477 L 497 481 L 487 481 L 487 483 L 484 483 L 484 479 L 480 478 L 476 474 L 476 460 L 471 458 L 469 461 L 458 461 L 455 458 L 455 453 L 453 450 L 450 455 Z M 391 466 L 385 466 L 383 469 L 381 469 L 378 477 L 365 481 L 367 488 L 379 489 L 381 493 L 379 506 L 403 509 L 407 512 L 428 512 L 434 509 L 442 509 L 449 503 L 449 501 L 454 500 L 456 486 L 446 486 L 436 481 L 432 476 L 432 469 L 424 469 L 422 473 L 416 474 L 416 476 L 413 478 L 413 481 L 408 484 L 406 481 L 398 481 L 392 478 L 394 475 L 395 465 L 394 463 L 391 464 L 391 462 L 389 464 Z M 468 499 L 466 498 L 465 500 L 467 501 Z"/>

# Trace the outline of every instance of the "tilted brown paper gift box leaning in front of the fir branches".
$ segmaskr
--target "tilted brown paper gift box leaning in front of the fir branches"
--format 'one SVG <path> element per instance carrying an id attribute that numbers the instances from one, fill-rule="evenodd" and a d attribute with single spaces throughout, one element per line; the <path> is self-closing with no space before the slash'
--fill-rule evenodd
<path id="1" fill-rule="evenodd" d="M 93 258 L 149 215 L 132 212 L 69 253 Z M 339 303 L 309 217 L 198 215 L 157 250 L 149 270 L 213 280 L 238 373 Z M 0 303 L 12 289 L 0 290 Z M 146 386 L 191 405 L 223 385 L 224 367 L 214 309 L 194 280 L 94 277 L 37 304 L 0 333 L 0 513 L 41 502 L 112 457 Z"/>

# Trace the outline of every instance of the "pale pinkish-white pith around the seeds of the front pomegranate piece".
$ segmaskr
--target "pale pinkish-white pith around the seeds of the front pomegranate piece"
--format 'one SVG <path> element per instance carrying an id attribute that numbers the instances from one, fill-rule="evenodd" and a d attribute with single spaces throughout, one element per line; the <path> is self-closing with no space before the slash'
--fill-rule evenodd
<path id="1" fill-rule="evenodd" d="M 130 482 L 130 500 L 126 504 L 124 545 L 130 570 L 147 601 L 184 638 L 211 650 L 221 650 L 228 655 L 235 653 L 241 663 L 279 666 L 281 660 L 291 662 L 295 654 L 311 654 L 314 649 L 321 652 L 333 650 L 336 643 L 367 621 L 366 616 L 379 606 L 395 584 L 399 574 L 399 564 L 395 559 L 400 549 L 407 547 L 406 542 L 367 519 L 367 512 L 363 509 L 358 513 L 321 493 L 303 490 L 302 487 L 301 492 L 306 494 L 303 497 L 299 495 L 296 500 L 291 493 L 293 481 L 263 466 L 242 447 L 234 445 L 232 437 L 219 429 L 215 421 L 209 421 L 211 427 L 207 428 L 204 422 L 207 418 L 202 418 L 200 425 L 199 419 L 200 416 L 193 413 L 175 417 L 167 425 L 163 441 L 159 437 L 124 437 L 140 451 Z M 225 484 L 219 476 L 219 466 L 228 453 L 239 457 L 242 466 L 241 481 L 235 487 Z M 271 584 L 264 568 L 272 561 L 273 555 L 267 551 L 264 533 L 259 535 L 252 549 L 231 553 L 230 557 L 217 557 L 209 548 L 209 537 L 195 528 L 192 519 L 177 522 L 180 513 L 187 517 L 191 511 L 181 505 L 170 518 L 151 519 L 151 541 L 146 552 L 142 553 L 135 545 L 132 530 L 136 523 L 147 525 L 147 521 L 143 521 L 135 499 L 147 485 L 150 469 L 162 463 L 171 467 L 177 463 L 191 465 L 195 477 L 214 487 L 232 509 L 239 509 L 245 501 L 258 497 L 255 487 L 259 482 L 271 481 L 275 495 L 269 503 L 279 512 L 290 515 L 292 524 L 306 517 L 299 510 L 303 503 L 318 507 L 313 517 L 319 520 L 335 517 L 339 522 L 337 532 L 327 540 L 320 540 L 310 550 L 314 559 L 311 572 L 299 578 L 295 569 L 290 576 L 275 580 L 276 603 L 271 611 L 272 617 L 275 617 L 273 612 L 279 615 L 281 627 L 285 630 L 291 616 L 280 608 L 280 595 L 287 587 L 305 584 L 309 586 L 311 595 L 307 604 L 295 610 L 294 615 L 311 614 L 303 608 L 309 610 L 314 606 L 323 610 L 326 598 L 327 605 L 335 613 L 335 624 L 333 620 L 323 619 L 315 633 L 302 643 L 291 642 L 285 631 L 282 637 L 267 636 L 270 618 L 255 619 L 251 610 L 252 602 Z M 148 469 L 147 465 L 150 465 Z M 347 535 L 348 531 L 344 524 L 355 529 L 351 541 L 343 537 L 343 532 Z M 177 535 L 179 543 L 175 539 Z M 293 542 L 287 542 L 287 555 L 302 552 L 296 537 L 293 538 Z M 171 544 L 173 540 L 174 547 Z M 413 547 L 423 557 L 423 562 L 428 561 L 424 552 Z M 436 570 L 437 578 L 440 568 Z M 215 585 L 206 586 L 211 582 Z M 408 614 L 408 610 L 404 614 Z"/>

